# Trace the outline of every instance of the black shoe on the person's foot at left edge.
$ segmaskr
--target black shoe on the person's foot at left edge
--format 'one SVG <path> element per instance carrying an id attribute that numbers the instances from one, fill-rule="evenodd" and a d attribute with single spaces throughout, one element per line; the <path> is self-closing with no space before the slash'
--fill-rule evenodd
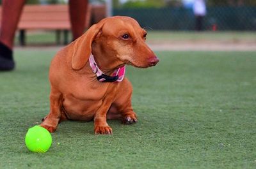
<path id="1" fill-rule="evenodd" d="M 0 42 L 0 71 L 11 71 L 15 68 L 13 52 Z"/>

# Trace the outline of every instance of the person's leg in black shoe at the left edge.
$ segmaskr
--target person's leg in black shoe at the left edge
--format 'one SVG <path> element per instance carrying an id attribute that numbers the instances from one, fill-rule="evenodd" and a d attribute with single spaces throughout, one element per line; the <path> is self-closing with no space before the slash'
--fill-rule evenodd
<path id="1" fill-rule="evenodd" d="M 26 0 L 3 0 L 0 29 L 0 71 L 13 70 L 13 41 L 20 13 Z"/>

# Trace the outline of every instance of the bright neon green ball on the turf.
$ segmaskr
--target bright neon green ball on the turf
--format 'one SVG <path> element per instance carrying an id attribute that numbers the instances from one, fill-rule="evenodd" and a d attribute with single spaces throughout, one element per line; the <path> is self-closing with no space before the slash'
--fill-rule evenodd
<path id="1" fill-rule="evenodd" d="M 47 152 L 52 144 L 52 136 L 47 129 L 41 126 L 34 126 L 28 129 L 25 143 L 29 151 Z"/>

